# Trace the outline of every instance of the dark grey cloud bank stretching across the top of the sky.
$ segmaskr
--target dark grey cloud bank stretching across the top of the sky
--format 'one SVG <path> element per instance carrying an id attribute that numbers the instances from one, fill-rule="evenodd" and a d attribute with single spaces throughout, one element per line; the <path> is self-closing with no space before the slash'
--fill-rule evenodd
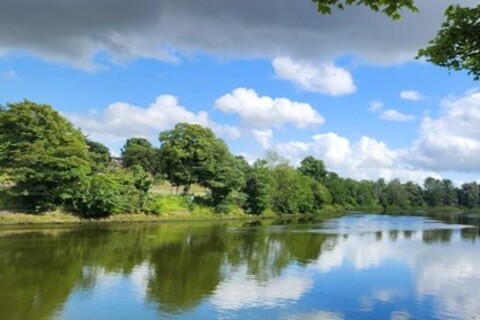
<path id="1" fill-rule="evenodd" d="M 427 44 L 450 1 L 416 4 L 420 13 L 392 21 L 363 7 L 321 16 L 313 3 L 296 0 L 1 1 L 0 52 L 28 52 L 82 68 L 95 68 L 98 53 L 112 60 L 201 52 L 323 61 L 354 54 L 392 63 L 412 59 Z"/>

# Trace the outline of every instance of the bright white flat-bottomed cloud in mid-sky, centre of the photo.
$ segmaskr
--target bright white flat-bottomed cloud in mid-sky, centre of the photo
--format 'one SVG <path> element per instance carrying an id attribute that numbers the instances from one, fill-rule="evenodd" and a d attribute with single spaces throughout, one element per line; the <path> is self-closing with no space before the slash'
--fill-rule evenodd
<path id="1" fill-rule="evenodd" d="M 293 124 L 302 129 L 325 122 L 308 103 L 259 96 L 253 89 L 237 88 L 218 98 L 215 106 L 223 112 L 238 114 L 244 124 L 256 128 L 266 129 Z"/>

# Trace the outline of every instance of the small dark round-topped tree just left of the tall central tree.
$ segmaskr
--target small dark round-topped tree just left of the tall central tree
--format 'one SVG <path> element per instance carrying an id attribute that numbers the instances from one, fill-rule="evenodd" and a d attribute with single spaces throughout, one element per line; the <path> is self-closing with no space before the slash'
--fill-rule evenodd
<path id="1" fill-rule="evenodd" d="M 139 165 L 152 176 L 160 171 L 158 150 L 145 138 L 128 139 L 122 148 L 122 163 L 125 168 Z"/>

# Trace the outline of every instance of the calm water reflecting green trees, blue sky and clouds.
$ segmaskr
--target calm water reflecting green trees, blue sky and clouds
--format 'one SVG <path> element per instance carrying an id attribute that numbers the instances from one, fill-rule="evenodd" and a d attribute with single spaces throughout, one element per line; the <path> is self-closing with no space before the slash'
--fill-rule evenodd
<path id="1" fill-rule="evenodd" d="M 480 232 L 453 221 L 0 230 L 0 319 L 480 319 Z"/>

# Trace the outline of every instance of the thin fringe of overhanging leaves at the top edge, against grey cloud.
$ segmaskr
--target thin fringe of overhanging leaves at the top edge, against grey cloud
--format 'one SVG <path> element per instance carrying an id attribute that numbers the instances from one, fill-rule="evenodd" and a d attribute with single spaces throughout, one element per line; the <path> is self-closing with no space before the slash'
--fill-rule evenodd
<path id="1" fill-rule="evenodd" d="M 401 18 L 401 11 L 408 9 L 417 12 L 414 0 L 312 0 L 317 5 L 318 12 L 322 14 L 330 14 L 332 7 L 341 10 L 345 6 L 364 5 L 373 11 L 381 11 L 388 17 L 398 20 Z"/>

